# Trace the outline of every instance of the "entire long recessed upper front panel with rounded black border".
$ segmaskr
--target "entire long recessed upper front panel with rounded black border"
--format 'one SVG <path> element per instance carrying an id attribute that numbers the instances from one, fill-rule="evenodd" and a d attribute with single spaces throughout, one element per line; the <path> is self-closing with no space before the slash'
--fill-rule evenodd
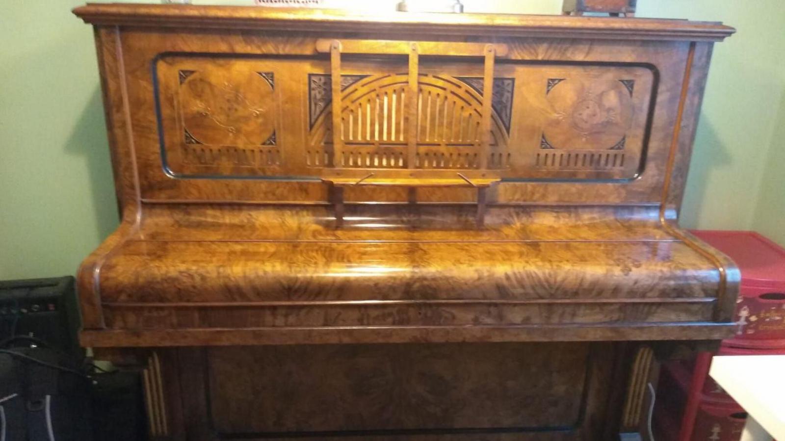
<path id="1" fill-rule="evenodd" d="M 327 60 L 162 56 L 155 63 L 162 163 L 176 177 L 306 177 L 325 167 L 476 169 L 479 57 L 424 57 L 418 93 L 405 57 L 341 66 L 342 155 L 334 163 Z M 642 172 L 655 78 L 648 67 L 500 59 L 487 168 L 504 179 L 628 180 Z M 416 100 L 416 120 L 408 103 Z"/>

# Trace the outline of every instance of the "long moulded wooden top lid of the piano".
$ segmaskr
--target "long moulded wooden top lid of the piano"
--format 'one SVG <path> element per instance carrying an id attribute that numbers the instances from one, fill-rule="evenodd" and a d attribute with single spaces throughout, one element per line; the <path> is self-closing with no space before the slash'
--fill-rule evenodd
<path id="1" fill-rule="evenodd" d="M 719 22 L 477 13 L 359 13 L 260 6 L 88 3 L 73 11 L 89 24 L 279 31 L 394 32 L 546 38 L 722 41 L 736 29 Z"/>

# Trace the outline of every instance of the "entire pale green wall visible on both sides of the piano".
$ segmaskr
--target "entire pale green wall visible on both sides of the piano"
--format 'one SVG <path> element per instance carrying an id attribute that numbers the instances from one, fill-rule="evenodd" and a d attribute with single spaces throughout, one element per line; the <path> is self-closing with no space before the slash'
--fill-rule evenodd
<path id="1" fill-rule="evenodd" d="M 389 9 L 396 1 L 356 3 Z M 0 279 L 72 274 L 118 222 L 93 35 L 70 13 L 81 3 L 0 2 Z M 561 4 L 464 3 L 467 12 L 502 13 L 559 13 Z M 715 49 L 682 224 L 759 228 L 785 243 L 781 0 L 638 3 L 639 16 L 721 20 L 739 29 Z"/>

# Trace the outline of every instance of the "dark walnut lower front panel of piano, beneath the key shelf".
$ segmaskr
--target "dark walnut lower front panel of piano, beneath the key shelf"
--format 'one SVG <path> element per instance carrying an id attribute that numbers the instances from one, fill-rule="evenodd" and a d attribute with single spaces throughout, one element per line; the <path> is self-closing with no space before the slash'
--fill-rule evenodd
<path id="1" fill-rule="evenodd" d="M 575 430 L 585 405 L 575 392 L 590 386 L 589 356 L 582 344 L 214 348 L 210 406 L 219 433 Z M 550 376 L 528 381 L 541 369 Z M 541 406 L 528 406 L 532 400 Z"/>

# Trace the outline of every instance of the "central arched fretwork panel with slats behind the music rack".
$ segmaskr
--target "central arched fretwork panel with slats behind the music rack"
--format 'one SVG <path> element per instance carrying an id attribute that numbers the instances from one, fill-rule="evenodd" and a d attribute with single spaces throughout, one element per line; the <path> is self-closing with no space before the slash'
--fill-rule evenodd
<path id="1" fill-rule="evenodd" d="M 427 67 L 427 65 L 425 65 Z M 386 71 L 367 67 L 363 75 L 341 78 L 341 140 L 344 155 L 340 164 L 330 162 L 333 144 L 330 110 L 330 75 L 309 75 L 308 165 L 349 168 L 406 168 L 409 142 L 407 106 L 412 100 L 406 66 L 390 65 Z M 453 75 L 425 70 L 419 75 L 417 96 L 417 169 L 473 169 L 479 166 L 482 142 L 483 80 L 458 77 L 455 72 L 476 71 L 476 66 L 455 67 Z M 447 70 L 447 69 L 445 69 Z M 372 72 L 372 73 L 371 73 Z M 514 78 L 495 78 L 491 151 L 488 167 L 504 169 L 509 164 Z"/>

